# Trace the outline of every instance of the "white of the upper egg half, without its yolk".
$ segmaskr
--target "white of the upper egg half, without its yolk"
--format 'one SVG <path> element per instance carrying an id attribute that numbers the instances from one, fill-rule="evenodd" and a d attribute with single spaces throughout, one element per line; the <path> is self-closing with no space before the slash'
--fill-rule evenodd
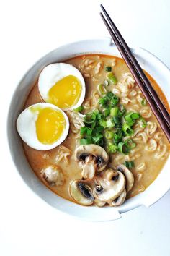
<path id="1" fill-rule="evenodd" d="M 54 63 L 42 69 L 42 72 L 40 73 L 38 79 L 38 88 L 40 91 L 40 95 L 44 101 L 48 101 L 48 92 L 50 88 L 52 88 L 56 82 L 63 79 L 64 77 L 67 77 L 68 75 L 73 75 L 77 77 L 81 82 L 81 95 L 76 105 L 69 108 L 63 108 L 63 110 L 65 111 L 73 110 L 74 108 L 81 106 L 84 101 L 86 86 L 84 82 L 84 77 L 82 76 L 81 72 L 79 72 L 76 67 L 73 67 L 70 64 Z"/>

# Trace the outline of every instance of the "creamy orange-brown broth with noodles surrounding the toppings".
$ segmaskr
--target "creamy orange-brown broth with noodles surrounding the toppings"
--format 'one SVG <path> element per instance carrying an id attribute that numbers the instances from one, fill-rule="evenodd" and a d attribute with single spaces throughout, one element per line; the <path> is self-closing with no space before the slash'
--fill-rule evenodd
<path id="1" fill-rule="evenodd" d="M 103 85 L 104 81 L 107 81 L 107 74 L 111 71 L 117 81 L 115 84 L 112 82 L 109 82 L 109 84 L 106 83 L 104 88 L 117 95 L 119 104 L 121 103 L 122 106 L 125 106 L 127 113 L 138 113 L 146 121 L 146 127 L 141 127 L 141 124 L 136 121 L 133 126 L 133 135 L 123 139 L 132 139 L 135 147 L 126 154 L 107 152 L 109 161 L 104 168 L 104 170 L 108 168 L 116 170 L 120 164 L 133 162 L 134 166 L 130 166 L 130 172 L 134 176 L 134 183 L 126 198 L 138 195 L 138 193 L 143 192 L 156 179 L 169 157 L 169 142 L 162 132 L 156 117 L 153 115 L 151 108 L 146 103 L 143 94 L 130 74 L 125 61 L 122 59 L 115 56 L 92 54 L 76 56 L 73 59 L 68 59 L 65 63 L 71 64 L 79 69 L 86 83 L 86 96 L 82 104 L 84 110 L 81 111 L 81 114 L 88 114 L 100 108 L 99 98 L 104 95 L 101 95 L 99 85 Z M 106 71 L 106 67 L 109 67 L 109 71 Z M 112 70 L 110 70 L 110 67 Z M 149 74 L 147 76 L 166 108 L 169 109 L 168 102 L 161 88 L 158 87 L 156 81 Z M 25 101 L 24 108 L 40 102 L 43 102 L 43 100 L 36 83 Z M 58 145 L 52 150 L 45 151 L 30 148 L 24 142 L 23 147 L 27 160 L 40 181 L 57 195 L 75 202 L 71 196 L 70 184 L 74 180 L 82 178 L 82 166 L 79 161 L 76 161 L 75 152 L 76 148 L 80 145 L 80 139 L 82 137 L 80 135 L 80 129 L 84 125 L 84 117 L 74 111 L 66 111 L 66 114 L 70 121 L 70 129 L 68 137 L 66 137 L 66 140 L 61 145 Z M 109 130 L 113 129 L 114 127 Z M 107 148 L 105 146 L 103 147 L 107 151 Z M 42 170 L 48 168 L 48 166 L 56 166 L 59 170 L 58 182 L 56 184 L 49 183 L 48 179 L 45 179 L 47 177 L 42 175 Z M 92 189 L 94 188 L 91 180 L 87 184 Z M 99 204 L 97 203 L 97 205 Z"/>

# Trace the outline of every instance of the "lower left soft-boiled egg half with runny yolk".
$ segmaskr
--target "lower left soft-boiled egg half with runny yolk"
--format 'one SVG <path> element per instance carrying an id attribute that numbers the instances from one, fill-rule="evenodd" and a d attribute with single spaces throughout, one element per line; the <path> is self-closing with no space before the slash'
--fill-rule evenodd
<path id="1" fill-rule="evenodd" d="M 36 150 L 50 150 L 68 135 L 66 114 L 50 103 L 37 103 L 24 109 L 17 119 L 17 131 L 27 145 Z"/>

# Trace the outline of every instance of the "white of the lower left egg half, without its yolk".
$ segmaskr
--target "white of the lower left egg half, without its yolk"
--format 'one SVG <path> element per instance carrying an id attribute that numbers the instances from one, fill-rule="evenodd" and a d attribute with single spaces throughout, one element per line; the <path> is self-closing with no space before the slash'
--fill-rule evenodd
<path id="1" fill-rule="evenodd" d="M 37 139 L 35 122 L 37 121 L 38 111 L 32 112 L 30 110 L 32 106 L 35 106 L 41 109 L 54 108 L 63 114 L 64 119 L 66 120 L 66 127 L 64 128 L 63 134 L 61 135 L 61 137 L 53 144 L 45 145 L 45 144 L 42 144 Z M 22 140 L 24 140 L 25 143 L 27 143 L 27 145 L 29 145 L 31 148 L 35 148 L 36 150 L 50 150 L 57 147 L 63 142 L 63 140 L 66 139 L 68 135 L 68 130 L 69 130 L 68 117 L 61 110 L 61 108 L 58 108 L 57 106 L 50 103 L 37 103 L 37 104 L 31 105 L 28 108 L 24 109 L 24 111 L 22 111 L 22 113 L 19 114 L 17 119 L 17 131 L 19 133 L 19 136 L 22 138 Z"/>

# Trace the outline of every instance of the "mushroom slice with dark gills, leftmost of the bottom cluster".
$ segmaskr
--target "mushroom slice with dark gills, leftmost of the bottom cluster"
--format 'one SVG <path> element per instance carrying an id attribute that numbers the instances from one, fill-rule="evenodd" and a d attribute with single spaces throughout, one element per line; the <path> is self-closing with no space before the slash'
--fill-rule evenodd
<path id="1" fill-rule="evenodd" d="M 92 205 L 94 196 L 91 187 L 85 181 L 75 180 L 70 186 L 71 197 L 81 205 Z"/>

